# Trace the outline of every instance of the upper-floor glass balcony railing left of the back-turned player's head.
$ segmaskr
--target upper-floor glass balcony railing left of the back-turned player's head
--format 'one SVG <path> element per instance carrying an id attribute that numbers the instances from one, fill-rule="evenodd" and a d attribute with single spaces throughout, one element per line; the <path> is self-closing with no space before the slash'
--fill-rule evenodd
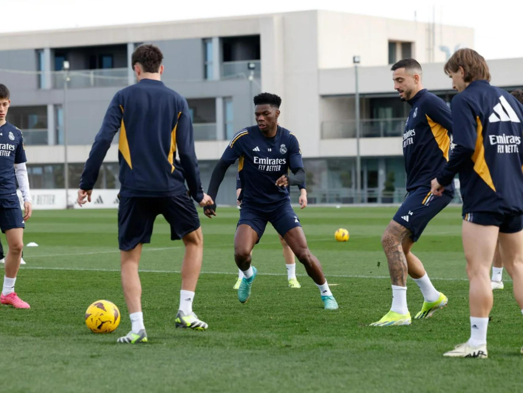
<path id="1" fill-rule="evenodd" d="M 106 68 L 98 70 L 70 70 L 69 89 L 104 88 L 126 86 L 128 84 L 127 68 Z M 54 89 L 63 89 L 64 71 L 52 73 Z"/>

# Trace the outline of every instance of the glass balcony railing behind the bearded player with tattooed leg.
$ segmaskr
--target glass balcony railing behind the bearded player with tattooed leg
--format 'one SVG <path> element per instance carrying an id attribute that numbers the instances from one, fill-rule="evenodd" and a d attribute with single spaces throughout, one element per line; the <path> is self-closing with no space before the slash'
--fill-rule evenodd
<path id="1" fill-rule="evenodd" d="M 377 138 L 402 136 L 404 118 L 361 119 L 360 137 Z M 356 121 L 345 120 L 322 123 L 322 139 L 356 138 Z"/>

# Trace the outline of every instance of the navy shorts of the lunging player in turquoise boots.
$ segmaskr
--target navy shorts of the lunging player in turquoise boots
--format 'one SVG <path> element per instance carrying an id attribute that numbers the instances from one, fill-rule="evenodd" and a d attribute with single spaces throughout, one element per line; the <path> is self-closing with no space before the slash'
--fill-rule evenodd
<path id="1" fill-rule="evenodd" d="M 278 232 L 281 237 L 285 236 L 292 228 L 301 226 L 300 219 L 296 213 L 294 213 L 290 202 L 269 211 L 245 206 L 243 203 L 241 207 L 240 221 L 238 221 L 236 228 L 242 224 L 250 226 L 258 234 L 258 242 L 265 232 L 267 222 L 270 222 L 272 226 L 274 226 L 276 232 Z"/>

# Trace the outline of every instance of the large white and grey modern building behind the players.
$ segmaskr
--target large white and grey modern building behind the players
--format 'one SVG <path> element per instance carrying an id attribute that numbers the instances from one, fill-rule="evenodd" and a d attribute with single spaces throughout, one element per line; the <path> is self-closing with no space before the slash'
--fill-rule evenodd
<path id="1" fill-rule="evenodd" d="M 188 100 L 204 188 L 229 138 L 254 124 L 253 95 L 268 91 L 282 97 L 280 124 L 300 140 L 310 202 L 352 203 L 359 56 L 363 202 L 397 202 L 405 189 L 401 135 L 409 107 L 393 91 L 390 64 L 416 58 L 425 86 L 450 102 L 443 63 L 473 41 L 470 28 L 316 10 L 24 32 L 0 35 L 0 83 L 11 91 L 8 121 L 24 132 L 32 188 L 64 188 L 64 144 L 69 184 L 77 187 L 112 96 L 135 82 L 134 48 L 154 43 L 165 57 L 162 80 Z M 523 83 L 516 72 L 523 59 L 489 64 L 493 83 Z M 226 175 L 219 203 L 234 203 L 235 171 Z M 116 144 L 96 187 L 119 187 Z"/>

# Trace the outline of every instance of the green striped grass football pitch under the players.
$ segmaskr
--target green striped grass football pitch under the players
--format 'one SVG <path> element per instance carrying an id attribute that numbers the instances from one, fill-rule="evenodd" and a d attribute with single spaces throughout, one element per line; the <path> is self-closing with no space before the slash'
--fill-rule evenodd
<path id="1" fill-rule="evenodd" d="M 276 232 L 268 227 L 253 253 L 259 276 L 241 304 L 233 236 L 238 211 L 201 214 L 203 268 L 194 310 L 207 332 L 174 328 L 183 243 L 169 240 L 163 217 L 141 261 L 149 343 L 117 344 L 130 330 L 119 275 L 116 210 L 36 211 L 27 224 L 28 264 L 16 290 L 30 310 L 0 307 L 0 391 L 518 391 L 523 318 L 512 283 L 494 293 L 486 360 L 442 353 L 469 337 L 468 281 L 460 208 L 429 224 L 413 252 L 448 306 L 411 326 L 371 328 L 389 310 L 389 272 L 380 237 L 394 208 L 307 208 L 298 211 L 320 259 L 338 311 L 324 311 L 320 293 L 298 263 L 301 289 L 287 287 Z M 334 231 L 350 239 L 337 243 Z M 5 237 L 2 241 L 5 244 Z M 505 275 L 505 272 L 504 272 Z M 412 315 L 423 298 L 407 282 Z M 95 300 L 115 302 L 119 328 L 93 334 L 84 312 Z"/>

